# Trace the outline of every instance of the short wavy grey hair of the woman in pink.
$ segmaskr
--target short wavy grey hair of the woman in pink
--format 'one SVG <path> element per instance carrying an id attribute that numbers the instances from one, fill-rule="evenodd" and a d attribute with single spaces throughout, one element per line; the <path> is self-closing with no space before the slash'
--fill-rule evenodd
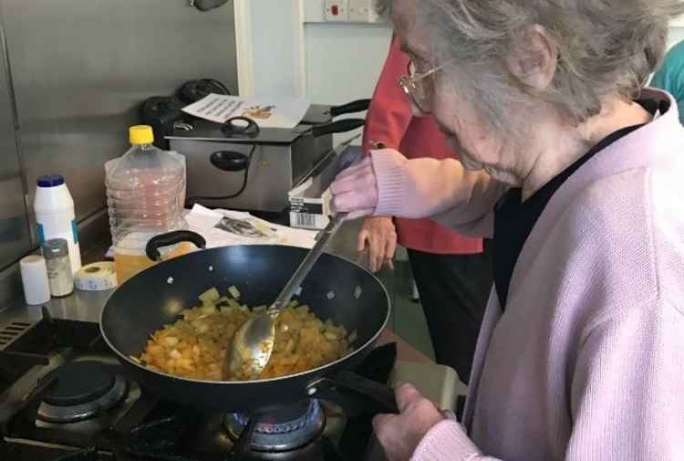
<path id="1" fill-rule="evenodd" d="M 669 19 L 684 13 L 679 0 L 415 1 L 432 64 L 452 62 L 459 90 L 476 98 L 497 127 L 510 127 L 516 93 L 550 102 L 574 124 L 598 114 L 606 95 L 638 99 L 664 55 Z M 526 88 L 505 66 L 515 37 L 528 26 L 544 27 L 558 47 L 554 79 L 543 93 Z"/>

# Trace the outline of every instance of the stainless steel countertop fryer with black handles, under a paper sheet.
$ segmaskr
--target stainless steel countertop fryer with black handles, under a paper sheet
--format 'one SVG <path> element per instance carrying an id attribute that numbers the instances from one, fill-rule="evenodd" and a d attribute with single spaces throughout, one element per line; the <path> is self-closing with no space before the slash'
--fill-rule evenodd
<path id="1" fill-rule="evenodd" d="M 193 120 L 168 139 L 171 150 L 187 159 L 190 203 L 281 212 L 288 205 L 287 193 L 332 154 L 333 133 L 355 130 L 364 121 L 333 118 L 367 108 L 368 100 L 333 108 L 314 105 L 293 130 L 241 132 Z"/>

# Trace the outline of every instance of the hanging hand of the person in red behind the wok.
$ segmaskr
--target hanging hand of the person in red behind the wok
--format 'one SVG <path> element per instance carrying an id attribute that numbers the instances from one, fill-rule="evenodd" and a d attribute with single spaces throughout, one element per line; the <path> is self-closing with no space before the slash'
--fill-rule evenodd
<path id="1" fill-rule="evenodd" d="M 392 259 L 397 249 L 397 232 L 392 218 L 386 216 L 367 217 L 358 231 L 358 251 L 368 248 L 368 265 L 372 272 L 378 272 L 383 265 L 394 268 Z"/>

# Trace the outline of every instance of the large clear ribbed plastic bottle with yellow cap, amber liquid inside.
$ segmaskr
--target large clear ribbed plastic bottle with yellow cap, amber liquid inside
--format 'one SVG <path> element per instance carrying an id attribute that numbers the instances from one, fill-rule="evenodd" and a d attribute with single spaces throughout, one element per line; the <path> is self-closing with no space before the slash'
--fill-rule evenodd
<path id="1" fill-rule="evenodd" d="M 105 164 L 109 226 L 119 284 L 154 264 L 145 254 L 153 236 L 185 229 L 185 165 L 179 154 L 154 145 L 149 126 L 130 127 L 130 150 Z M 161 249 L 163 259 L 187 253 L 189 244 Z"/>

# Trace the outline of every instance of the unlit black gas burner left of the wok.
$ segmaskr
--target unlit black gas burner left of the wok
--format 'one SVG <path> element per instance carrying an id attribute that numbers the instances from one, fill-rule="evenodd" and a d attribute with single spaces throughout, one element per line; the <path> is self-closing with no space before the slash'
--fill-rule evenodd
<path id="1" fill-rule="evenodd" d="M 37 412 L 37 418 L 48 423 L 76 423 L 95 417 L 128 392 L 126 380 L 98 361 L 74 361 L 53 373 L 55 383 Z"/>

